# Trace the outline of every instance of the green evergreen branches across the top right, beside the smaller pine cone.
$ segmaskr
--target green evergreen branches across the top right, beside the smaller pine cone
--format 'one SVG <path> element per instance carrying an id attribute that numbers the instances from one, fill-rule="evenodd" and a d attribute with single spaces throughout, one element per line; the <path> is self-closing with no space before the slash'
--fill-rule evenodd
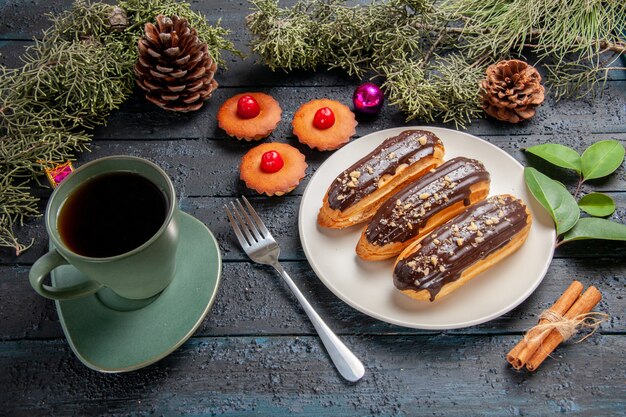
<path id="1" fill-rule="evenodd" d="M 271 69 L 341 68 L 357 77 L 373 71 L 385 77 L 389 102 L 407 120 L 463 126 L 480 116 L 483 70 L 524 48 L 549 65 L 557 98 L 593 93 L 621 68 L 601 57 L 626 54 L 623 0 L 251 3 L 252 49 Z"/>

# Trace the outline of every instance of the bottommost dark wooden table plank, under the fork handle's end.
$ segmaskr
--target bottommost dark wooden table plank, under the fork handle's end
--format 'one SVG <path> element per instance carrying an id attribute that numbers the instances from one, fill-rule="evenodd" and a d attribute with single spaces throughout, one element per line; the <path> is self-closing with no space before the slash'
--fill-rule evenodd
<path id="1" fill-rule="evenodd" d="M 153 366 L 118 375 L 88 370 L 63 341 L 7 342 L 0 398 L 8 415 L 29 417 L 617 416 L 626 406 L 621 336 L 561 346 L 533 375 L 504 360 L 513 336 L 345 340 L 367 364 L 357 384 L 341 381 L 308 336 L 196 338 Z"/>

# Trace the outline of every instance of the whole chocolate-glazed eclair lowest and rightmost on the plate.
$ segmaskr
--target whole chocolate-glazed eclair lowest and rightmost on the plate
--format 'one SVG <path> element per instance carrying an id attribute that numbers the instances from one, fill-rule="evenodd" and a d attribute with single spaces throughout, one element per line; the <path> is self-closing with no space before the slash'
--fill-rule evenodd
<path id="1" fill-rule="evenodd" d="M 416 300 L 444 297 L 519 249 L 531 223 L 522 200 L 489 197 L 408 246 L 396 261 L 393 283 Z"/>

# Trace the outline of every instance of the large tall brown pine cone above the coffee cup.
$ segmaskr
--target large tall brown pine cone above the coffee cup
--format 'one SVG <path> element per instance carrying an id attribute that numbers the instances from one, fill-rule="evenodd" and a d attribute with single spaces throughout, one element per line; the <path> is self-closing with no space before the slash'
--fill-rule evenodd
<path id="1" fill-rule="evenodd" d="M 146 23 L 138 47 L 137 84 L 157 106 L 180 112 L 198 110 L 217 88 L 213 79 L 217 64 L 186 19 L 157 16 L 156 26 Z"/>

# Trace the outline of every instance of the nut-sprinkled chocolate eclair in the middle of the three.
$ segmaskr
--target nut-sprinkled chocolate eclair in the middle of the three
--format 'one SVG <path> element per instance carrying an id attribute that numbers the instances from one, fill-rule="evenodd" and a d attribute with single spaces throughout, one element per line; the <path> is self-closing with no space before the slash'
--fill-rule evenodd
<path id="1" fill-rule="evenodd" d="M 392 195 L 361 233 L 356 253 L 366 260 L 397 256 L 412 242 L 489 194 L 489 172 L 457 157 Z"/>

